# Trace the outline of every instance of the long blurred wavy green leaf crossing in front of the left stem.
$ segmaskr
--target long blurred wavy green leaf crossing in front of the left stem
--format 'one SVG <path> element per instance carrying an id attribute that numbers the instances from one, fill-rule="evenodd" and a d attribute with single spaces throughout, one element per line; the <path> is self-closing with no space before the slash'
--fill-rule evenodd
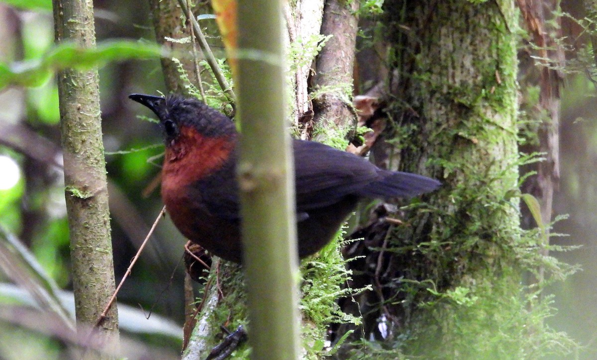
<path id="1" fill-rule="evenodd" d="M 103 66 L 109 61 L 149 59 L 163 55 L 164 51 L 158 45 L 133 41 L 106 41 L 91 49 L 70 42 L 63 43 L 53 47 L 41 59 L 12 64 L 0 62 L 0 89 L 8 85 L 41 86 L 56 70 L 85 70 Z"/>

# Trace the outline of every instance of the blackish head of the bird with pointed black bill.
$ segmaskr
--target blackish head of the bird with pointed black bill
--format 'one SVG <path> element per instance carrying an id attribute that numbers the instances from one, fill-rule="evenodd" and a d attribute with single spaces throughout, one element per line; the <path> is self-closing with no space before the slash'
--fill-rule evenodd
<path id="1" fill-rule="evenodd" d="M 131 94 L 128 97 L 149 107 L 158 116 L 167 147 L 176 144 L 181 137 L 195 132 L 209 138 L 236 133 L 232 120 L 193 97 L 143 94 Z"/>

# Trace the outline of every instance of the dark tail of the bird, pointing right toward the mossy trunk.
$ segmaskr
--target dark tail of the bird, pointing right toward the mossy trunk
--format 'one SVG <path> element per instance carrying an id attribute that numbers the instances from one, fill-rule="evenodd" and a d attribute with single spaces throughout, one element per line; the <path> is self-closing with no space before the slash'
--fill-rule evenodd
<path id="1" fill-rule="evenodd" d="M 401 173 L 399 171 L 381 171 L 380 180 L 371 182 L 359 189 L 357 195 L 367 198 L 411 198 L 437 189 L 441 183 L 429 177 Z"/>

